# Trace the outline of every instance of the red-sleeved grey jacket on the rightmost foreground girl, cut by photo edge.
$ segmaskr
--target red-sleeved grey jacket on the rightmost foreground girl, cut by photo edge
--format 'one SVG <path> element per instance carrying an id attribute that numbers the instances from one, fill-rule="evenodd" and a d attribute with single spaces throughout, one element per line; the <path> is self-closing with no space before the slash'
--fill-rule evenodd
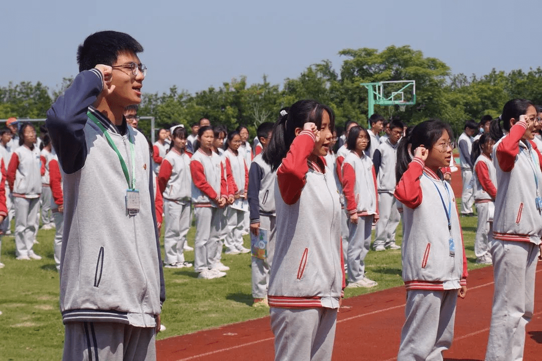
<path id="1" fill-rule="evenodd" d="M 493 238 L 502 241 L 540 243 L 542 212 L 537 209 L 542 197 L 542 172 L 538 153 L 530 141 L 521 140 L 527 124 L 518 121 L 493 147 L 497 195 L 493 218 Z"/>

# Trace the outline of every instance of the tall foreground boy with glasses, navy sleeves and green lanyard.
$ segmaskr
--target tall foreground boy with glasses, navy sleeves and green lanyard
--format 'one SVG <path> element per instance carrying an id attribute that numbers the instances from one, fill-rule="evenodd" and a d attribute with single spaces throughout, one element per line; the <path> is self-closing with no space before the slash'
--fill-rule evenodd
<path id="1" fill-rule="evenodd" d="M 64 187 L 64 360 L 156 360 L 165 289 L 152 160 L 123 115 L 141 102 L 141 51 L 117 31 L 88 36 L 80 73 L 47 112 Z"/>

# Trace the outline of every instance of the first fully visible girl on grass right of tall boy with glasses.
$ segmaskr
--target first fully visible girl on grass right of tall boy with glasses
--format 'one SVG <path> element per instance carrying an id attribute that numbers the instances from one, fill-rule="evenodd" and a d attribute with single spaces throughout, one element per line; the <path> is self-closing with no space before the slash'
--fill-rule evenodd
<path id="1" fill-rule="evenodd" d="M 164 198 L 164 267 L 192 267 L 184 260 L 184 244 L 190 228 L 192 177 L 190 157 L 185 152 L 186 130 L 173 130 L 171 148 L 158 173 L 159 193 Z"/>

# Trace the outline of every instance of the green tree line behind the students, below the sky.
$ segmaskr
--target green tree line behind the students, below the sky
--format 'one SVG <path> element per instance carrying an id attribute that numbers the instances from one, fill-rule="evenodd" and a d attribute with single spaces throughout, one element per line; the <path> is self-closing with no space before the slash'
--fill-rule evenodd
<path id="1" fill-rule="evenodd" d="M 344 49 L 339 71 L 331 61 L 308 66 L 295 79 L 285 79 L 282 87 L 263 75 L 257 83 L 247 84 L 245 76 L 223 82 L 190 94 L 173 86 L 162 94 L 144 93 L 138 114 L 156 118 L 158 127 L 174 124 L 189 126 L 199 118 L 228 129 L 248 126 L 251 135 L 263 121 L 275 121 L 278 111 L 299 99 L 314 99 L 329 105 L 335 112 L 335 123 L 343 126 L 354 120 L 367 125 L 367 90 L 363 82 L 415 80 L 416 105 L 401 111 L 397 106 L 375 106 L 375 112 L 386 118 L 398 118 L 417 124 L 438 118 L 451 124 L 460 134 L 464 122 L 478 121 L 482 115 L 498 117 L 502 106 L 512 98 L 526 98 L 542 104 L 542 68 L 512 70 L 509 73 L 491 69 L 482 76 L 452 74 L 450 68 L 434 57 L 410 46 L 390 46 L 382 51 L 370 48 Z M 10 82 L 0 87 L 0 119 L 44 118 L 53 99 L 69 85 L 64 78 L 59 89 L 49 92 L 41 82 Z M 139 123 L 150 135 L 150 124 Z"/>

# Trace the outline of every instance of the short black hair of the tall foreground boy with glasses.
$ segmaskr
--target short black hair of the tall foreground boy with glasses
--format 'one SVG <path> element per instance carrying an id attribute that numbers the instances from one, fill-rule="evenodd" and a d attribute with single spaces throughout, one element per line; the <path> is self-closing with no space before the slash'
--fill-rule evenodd
<path id="1" fill-rule="evenodd" d="M 141 44 L 128 34 L 119 31 L 98 31 L 89 35 L 77 49 L 79 72 L 98 64 L 113 66 L 121 53 L 141 53 Z"/>

